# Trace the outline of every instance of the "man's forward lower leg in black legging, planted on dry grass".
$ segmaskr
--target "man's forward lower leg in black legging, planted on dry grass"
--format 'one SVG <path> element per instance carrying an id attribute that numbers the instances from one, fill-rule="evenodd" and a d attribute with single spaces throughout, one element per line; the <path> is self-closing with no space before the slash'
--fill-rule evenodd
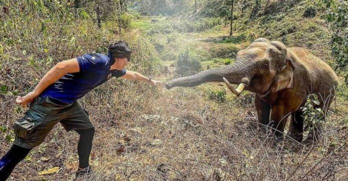
<path id="1" fill-rule="evenodd" d="M 79 135 L 79 140 L 77 144 L 77 154 L 78 154 L 78 167 L 80 169 L 89 166 L 89 154 L 92 149 L 92 141 L 94 136 L 94 127 L 89 129 L 77 129 L 75 130 Z"/>

